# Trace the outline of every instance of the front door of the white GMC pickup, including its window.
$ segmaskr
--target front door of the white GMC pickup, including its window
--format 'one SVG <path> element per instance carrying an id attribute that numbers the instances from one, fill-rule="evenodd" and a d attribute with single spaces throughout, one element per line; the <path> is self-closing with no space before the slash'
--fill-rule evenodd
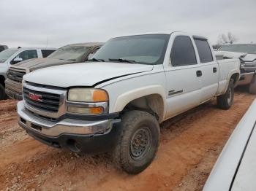
<path id="1" fill-rule="evenodd" d="M 200 103 L 202 83 L 192 36 L 172 35 L 171 38 L 173 44 L 170 50 L 170 67 L 165 69 L 167 117 L 197 106 Z"/>

